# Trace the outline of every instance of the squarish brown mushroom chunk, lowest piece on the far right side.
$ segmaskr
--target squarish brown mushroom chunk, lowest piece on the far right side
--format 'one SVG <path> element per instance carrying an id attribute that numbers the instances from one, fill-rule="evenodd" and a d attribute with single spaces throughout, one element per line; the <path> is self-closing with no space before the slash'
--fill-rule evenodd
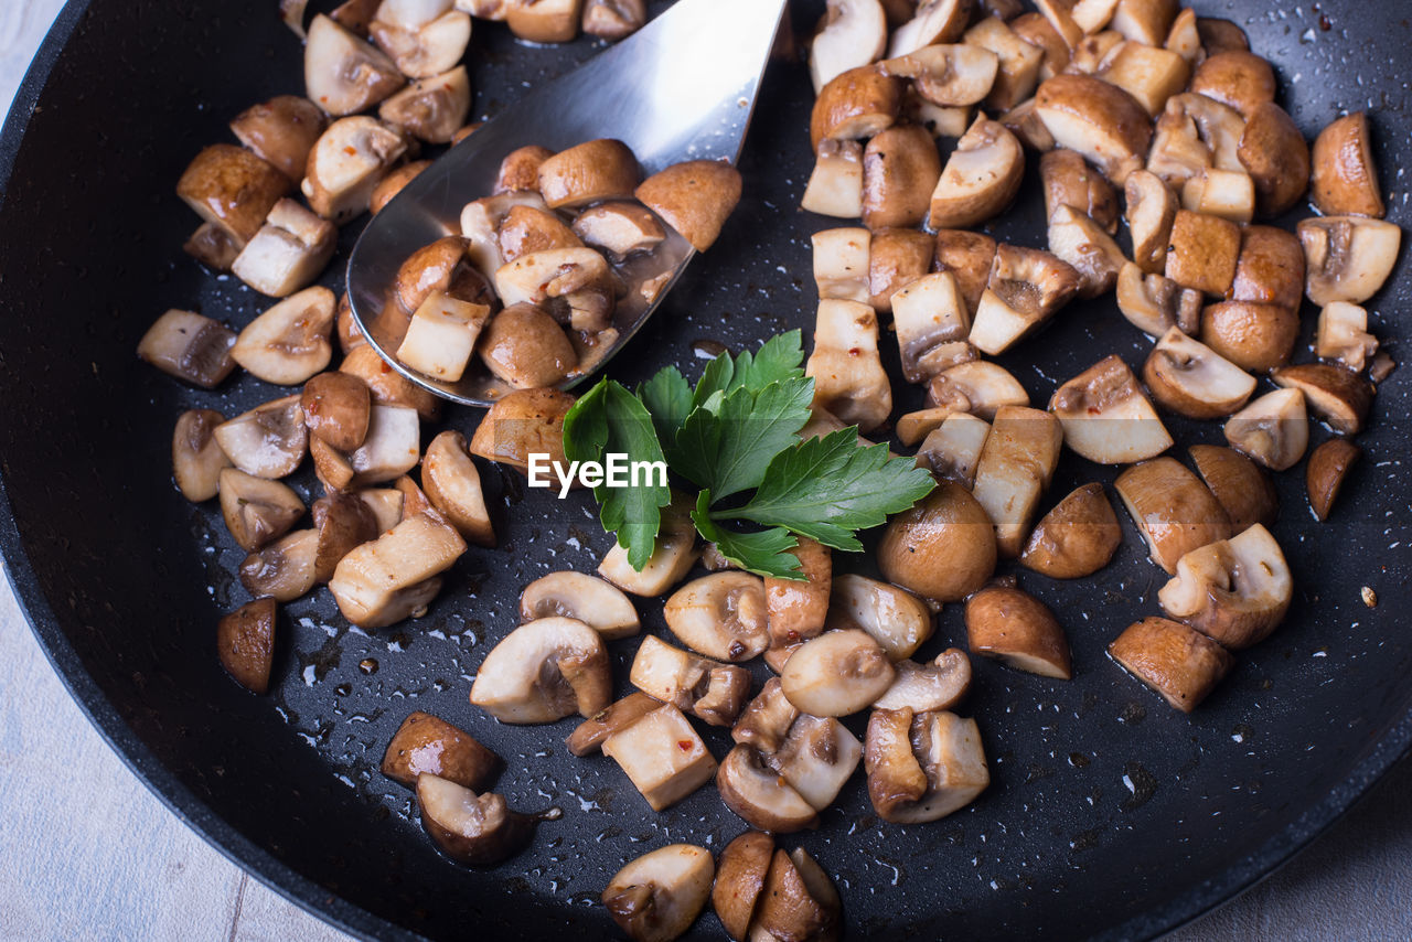
<path id="1" fill-rule="evenodd" d="M 1183 713 L 1204 700 L 1236 664 L 1220 644 L 1171 619 L 1128 626 L 1108 645 L 1108 655 Z"/>

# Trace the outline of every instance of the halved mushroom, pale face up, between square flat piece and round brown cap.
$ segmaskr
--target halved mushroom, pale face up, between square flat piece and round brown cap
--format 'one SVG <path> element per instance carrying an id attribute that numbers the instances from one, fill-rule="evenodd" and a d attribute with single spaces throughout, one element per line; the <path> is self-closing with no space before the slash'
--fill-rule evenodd
<path id="1" fill-rule="evenodd" d="M 1142 366 L 1152 398 L 1187 418 L 1220 418 L 1243 407 L 1255 377 L 1209 346 L 1172 328 Z"/>

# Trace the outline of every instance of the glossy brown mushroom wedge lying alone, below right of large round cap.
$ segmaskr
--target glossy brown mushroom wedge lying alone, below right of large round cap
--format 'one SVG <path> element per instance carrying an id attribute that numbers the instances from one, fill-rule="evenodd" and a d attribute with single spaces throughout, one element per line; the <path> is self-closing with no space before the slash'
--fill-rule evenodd
<path id="1" fill-rule="evenodd" d="M 1019 589 L 991 586 L 967 599 L 966 637 L 973 654 L 1018 671 L 1060 681 L 1073 676 L 1069 638 L 1053 612 Z"/>

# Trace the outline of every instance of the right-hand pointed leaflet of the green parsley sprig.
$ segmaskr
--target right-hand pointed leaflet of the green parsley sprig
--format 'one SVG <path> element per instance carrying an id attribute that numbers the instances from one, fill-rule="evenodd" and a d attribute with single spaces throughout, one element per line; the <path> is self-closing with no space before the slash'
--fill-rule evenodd
<path id="1" fill-rule="evenodd" d="M 856 531 L 907 510 L 936 482 L 907 458 L 890 460 L 887 445 L 860 448 L 857 435 L 857 428 L 846 428 L 779 452 L 744 507 L 712 517 L 785 527 L 834 549 L 863 549 Z"/>

